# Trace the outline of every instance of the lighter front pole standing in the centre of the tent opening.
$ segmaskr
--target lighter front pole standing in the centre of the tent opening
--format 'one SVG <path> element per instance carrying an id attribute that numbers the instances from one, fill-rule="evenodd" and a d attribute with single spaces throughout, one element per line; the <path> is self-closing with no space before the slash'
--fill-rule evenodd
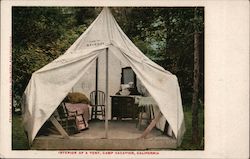
<path id="1" fill-rule="evenodd" d="M 108 60 L 108 48 L 106 48 L 106 104 L 105 104 L 105 138 L 108 138 L 108 88 L 109 88 L 109 85 L 108 85 L 108 81 L 109 81 L 109 78 L 108 78 L 108 74 L 109 74 L 109 70 L 108 70 L 108 63 L 109 63 L 109 60 Z"/>

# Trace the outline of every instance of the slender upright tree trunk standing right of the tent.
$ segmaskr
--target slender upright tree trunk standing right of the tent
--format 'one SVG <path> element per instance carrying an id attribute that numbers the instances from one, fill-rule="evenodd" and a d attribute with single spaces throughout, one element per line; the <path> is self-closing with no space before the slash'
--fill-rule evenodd
<path id="1" fill-rule="evenodd" d="M 198 93 L 199 93 L 199 33 L 194 33 L 194 83 L 192 99 L 192 142 L 198 144 Z"/>

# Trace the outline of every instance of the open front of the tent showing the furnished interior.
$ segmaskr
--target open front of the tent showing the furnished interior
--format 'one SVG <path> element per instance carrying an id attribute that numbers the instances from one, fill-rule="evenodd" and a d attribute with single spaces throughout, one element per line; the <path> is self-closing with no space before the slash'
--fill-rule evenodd
<path id="1" fill-rule="evenodd" d="M 138 138 L 160 112 L 133 69 L 110 54 L 105 49 L 105 53 L 98 55 L 54 111 L 53 116 L 69 135 Z M 58 134 L 56 129 L 46 122 L 38 135 L 47 135 L 48 131 Z M 174 137 L 164 116 L 157 121 L 152 135 Z"/>

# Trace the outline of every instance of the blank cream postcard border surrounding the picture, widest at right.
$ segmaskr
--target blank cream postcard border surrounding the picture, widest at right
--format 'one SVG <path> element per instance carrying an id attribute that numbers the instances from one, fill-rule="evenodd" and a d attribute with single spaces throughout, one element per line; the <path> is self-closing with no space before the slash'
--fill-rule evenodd
<path id="1" fill-rule="evenodd" d="M 205 150 L 159 155 L 60 155 L 58 151 L 12 151 L 9 122 L 12 6 L 204 6 Z M 0 154 L 7 158 L 248 158 L 249 1 L 1 1 Z"/>

